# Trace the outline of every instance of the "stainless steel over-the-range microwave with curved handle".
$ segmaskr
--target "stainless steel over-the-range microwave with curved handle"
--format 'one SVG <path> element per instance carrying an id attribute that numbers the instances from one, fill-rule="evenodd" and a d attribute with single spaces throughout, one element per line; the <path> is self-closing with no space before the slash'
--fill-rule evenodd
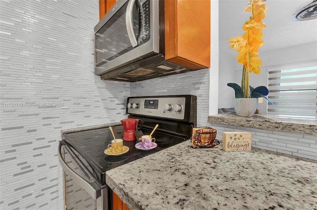
<path id="1" fill-rule="evenodd" d="M 95 27 L 96 75 L 117 70 L 112 74 L 123 74 L 124 81 L 133 69 L 119 68 L 146 58 L 163 60 L 158 54 L 159 0 L 117 0 Z"/>

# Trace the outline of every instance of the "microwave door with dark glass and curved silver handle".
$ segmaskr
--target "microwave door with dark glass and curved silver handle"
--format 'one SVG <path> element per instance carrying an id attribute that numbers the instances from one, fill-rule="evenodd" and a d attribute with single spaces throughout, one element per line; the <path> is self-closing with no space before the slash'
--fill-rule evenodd
<path id="1" fill-rule="evenodd" d="M 150 0 L 129 0 L 95 34 L 96 67 L 150 40 Z"/>

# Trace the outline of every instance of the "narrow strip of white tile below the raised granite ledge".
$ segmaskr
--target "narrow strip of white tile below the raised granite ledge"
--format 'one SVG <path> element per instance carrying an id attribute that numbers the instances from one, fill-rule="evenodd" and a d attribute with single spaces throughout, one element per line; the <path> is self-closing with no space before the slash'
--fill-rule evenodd
<path id="1" fill-rule="evenodd" d="M 252 147 L 287 155 L 317 160 L 317 135 L 263 130 L 250 127 L 211 124 L 217 130 L 217 139 L 222 132 L 248 131 L 252 133 Z"/>

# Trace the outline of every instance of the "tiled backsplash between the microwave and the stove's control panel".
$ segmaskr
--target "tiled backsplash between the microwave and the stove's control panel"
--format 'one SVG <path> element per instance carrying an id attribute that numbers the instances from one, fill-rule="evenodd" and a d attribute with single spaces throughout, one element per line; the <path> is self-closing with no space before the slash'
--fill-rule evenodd
<path id="1" fill-rule="evenodd" d="M 197 126 L 209 123 L 209 69 L 131 83 L 131 96 L 196 95 Z"/>

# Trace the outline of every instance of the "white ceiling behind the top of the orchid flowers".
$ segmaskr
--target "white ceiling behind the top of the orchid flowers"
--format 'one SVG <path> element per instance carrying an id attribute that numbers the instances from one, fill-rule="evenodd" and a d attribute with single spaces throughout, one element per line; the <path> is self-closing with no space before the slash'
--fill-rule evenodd
<path id="1" fill-rule="evenodd" d="M 317 19 L 294 21 L 292 14 L 313 0 L 266 0 L 267 13 L 263 20 L 264 45 L 260 51 L 269 51 L 292 45 L 317 42 Z M 228 44 L 228 38 L 243 35 L 243 23 L 250 12 L 243 9 L 249 0 L 219 0 L 219 46 Z M 222 49 L 232 51 L 230 47 Z"/>

